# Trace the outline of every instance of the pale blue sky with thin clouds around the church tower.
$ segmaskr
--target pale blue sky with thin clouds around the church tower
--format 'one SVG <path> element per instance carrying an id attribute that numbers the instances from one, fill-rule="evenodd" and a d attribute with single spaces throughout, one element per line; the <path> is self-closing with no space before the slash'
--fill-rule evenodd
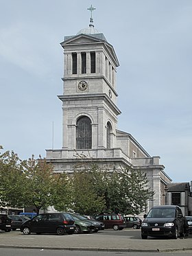
<path id="1" fill-rule="evenodd" d="M 173 182 L 192 180 L 191 0 L 0 0 L 0 145 L 29 159 L 62 148 L 64 36 L 93 24 L 113 45 L 117 128 Z"/>

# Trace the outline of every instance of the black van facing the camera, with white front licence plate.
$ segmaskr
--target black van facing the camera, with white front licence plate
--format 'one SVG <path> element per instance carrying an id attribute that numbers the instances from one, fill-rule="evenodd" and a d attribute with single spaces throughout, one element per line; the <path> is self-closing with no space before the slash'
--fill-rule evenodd
<path id="1" fill-rule="evenodd" d="M 143 216 L 141 224 L 141 237 L 167 235 L 178 238 L 187 233 L 187 220 L 182 215 L 180 207 L 175 205 L 160 205 L 152 207 L 149 213 Z"/>

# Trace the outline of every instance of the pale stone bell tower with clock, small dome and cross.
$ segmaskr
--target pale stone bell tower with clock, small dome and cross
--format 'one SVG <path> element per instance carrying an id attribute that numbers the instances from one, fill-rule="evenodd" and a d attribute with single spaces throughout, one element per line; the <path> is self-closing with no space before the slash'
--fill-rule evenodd
<path id="1" fill-rule="evenodd" d="M 62 150 L 115 148 L 117 115 L 115 50 L 91 19 L 88 28 L 65 36 L 62 101 Z"/>

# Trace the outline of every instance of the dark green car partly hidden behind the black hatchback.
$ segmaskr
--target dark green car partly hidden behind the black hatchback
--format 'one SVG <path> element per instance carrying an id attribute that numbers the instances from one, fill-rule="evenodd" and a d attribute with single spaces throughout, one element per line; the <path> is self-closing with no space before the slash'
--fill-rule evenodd
<path id="1" fill-rule="evenodd" d="M 77 216 L 74 213 L 69 213 L 75 220 L 75 233 L 90 233 L 95 230 L 93 223 L 88 220 L 83 220 L 80 216 Z"/>

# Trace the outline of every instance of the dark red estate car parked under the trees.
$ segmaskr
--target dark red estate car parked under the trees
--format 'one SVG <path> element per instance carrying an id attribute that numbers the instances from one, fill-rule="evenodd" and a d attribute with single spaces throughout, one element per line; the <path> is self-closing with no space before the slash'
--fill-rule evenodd
<path id="1" fill-rule="evenodd" d="M 105 229 L 122 230 L 126 227 L 125 219 L 121 214 L 104 213 L 95 216 L 95 219 L 104 222 Z"/>

